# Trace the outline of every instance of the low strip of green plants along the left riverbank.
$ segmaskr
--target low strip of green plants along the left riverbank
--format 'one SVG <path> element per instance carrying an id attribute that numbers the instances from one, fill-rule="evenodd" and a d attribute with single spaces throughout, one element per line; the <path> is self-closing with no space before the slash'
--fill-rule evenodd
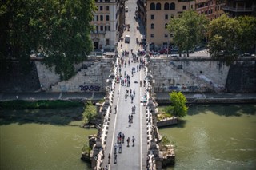
<path id="1" fill-rule="evenodd" d="M 0 101 L 0 109 L 57 109 L 82 106 L 77 101 Z"/>

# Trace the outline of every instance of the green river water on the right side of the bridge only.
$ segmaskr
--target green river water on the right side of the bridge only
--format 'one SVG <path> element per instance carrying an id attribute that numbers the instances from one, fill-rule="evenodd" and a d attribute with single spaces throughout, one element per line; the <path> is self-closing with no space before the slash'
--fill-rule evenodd
<path id="1" fill-rule="evenodd" d="M 256 105 L 196 105 L 178 126 L 161 128 L 176 146 L 166 169 L 255 169 Z"/>

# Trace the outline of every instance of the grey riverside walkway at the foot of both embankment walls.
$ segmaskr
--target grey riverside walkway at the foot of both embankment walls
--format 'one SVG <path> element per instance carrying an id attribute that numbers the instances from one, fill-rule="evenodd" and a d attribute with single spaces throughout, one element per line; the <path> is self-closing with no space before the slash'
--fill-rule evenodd
<path id="1" fill-rule="evenodd" d="M 230 104 L 256 103 L 256 93 L 183 93 L 188 103 L 193 104 Z M 69 100 L 69 101 L 101 101 L 105 93 L 0 93 L 0 101 L 24 100 Z M 156 101 L 161 104 L 170 104 L 168 92 L 155 93 Z"/>

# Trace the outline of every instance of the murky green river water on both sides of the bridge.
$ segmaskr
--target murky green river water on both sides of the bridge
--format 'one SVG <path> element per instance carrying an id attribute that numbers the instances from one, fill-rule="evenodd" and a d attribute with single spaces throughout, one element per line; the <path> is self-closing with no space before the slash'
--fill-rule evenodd
<path id="1" fill-rule="evenodd" d="M 0 169 L 90 169 L 80 160 L 87 136 L 82 109 L 0 111 Z M 256 105 L 197 105 L 159 132 L 176 146 L 166 169 L 256 169 Z"/>

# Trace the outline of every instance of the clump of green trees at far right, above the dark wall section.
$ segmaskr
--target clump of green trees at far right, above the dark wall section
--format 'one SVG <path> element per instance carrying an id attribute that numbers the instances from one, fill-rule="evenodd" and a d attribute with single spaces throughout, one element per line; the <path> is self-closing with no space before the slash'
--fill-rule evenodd
<path id="1" fill-rule="evenodd" d="M 241 16 L 229 18 L 223 14 L 210 22 L 209 49 L 211 57 L 223 57 L 227 64 L 244 53 L 255 48 L 256 18 Z"/>

